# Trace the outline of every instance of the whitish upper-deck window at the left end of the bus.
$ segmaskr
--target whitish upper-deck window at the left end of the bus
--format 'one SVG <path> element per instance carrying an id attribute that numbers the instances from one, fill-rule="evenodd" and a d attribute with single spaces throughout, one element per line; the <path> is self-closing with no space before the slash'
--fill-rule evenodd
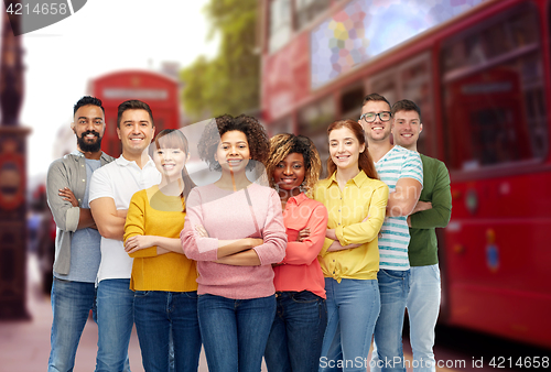
<path id="1" fill-rule="evenodd" d="M 276 52 L 291 40 L 291 0 L 271 0 L 270 1 L 270 33 L 269 50 Z"/>

